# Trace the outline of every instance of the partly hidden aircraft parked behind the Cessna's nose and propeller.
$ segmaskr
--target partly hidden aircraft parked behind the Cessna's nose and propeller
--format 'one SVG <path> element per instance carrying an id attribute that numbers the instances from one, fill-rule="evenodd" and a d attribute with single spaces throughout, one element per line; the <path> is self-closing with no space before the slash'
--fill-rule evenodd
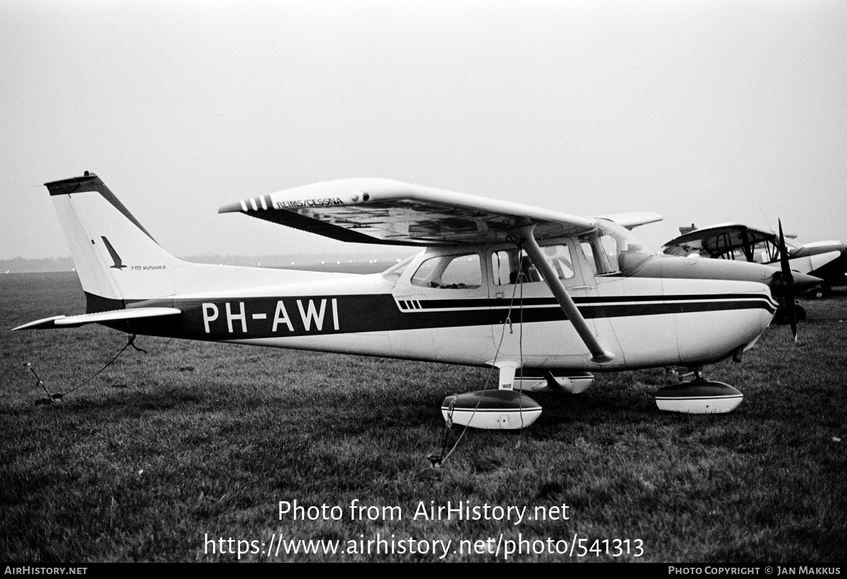
<path id="1" fill-rule="evenodd" d="M 724 223 L 701 229 L 692 225 L 680 227 L 679 231 L 682 235 L 665 243 L 662 253 L 776 265 L 781 263 L 783 253 L 787 253 L 792 271 L 822 280 L 814 287 L 818 297 L 828 294 L 833 286 L 847 283 L 847 244 L 839 241 L 799 244 L 785 240 L 783 252 L 778 233 L 741 223 Z M 784 237 L 794 239 L 797 236 Z"/>

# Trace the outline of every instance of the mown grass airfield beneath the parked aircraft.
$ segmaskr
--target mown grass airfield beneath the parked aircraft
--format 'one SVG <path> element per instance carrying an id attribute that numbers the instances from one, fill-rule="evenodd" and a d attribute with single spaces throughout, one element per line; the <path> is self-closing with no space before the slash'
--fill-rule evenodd
<path id="1" fill-rule="evenodd" d="M 486 370 L 139 337 L 147 354 L 129 348 L 43 404 L 26 362 L 64 392 L 127 337 L 8 331 L 84 311 L 73 274 L 0 276 L 0 297 L 3 561 L 436 561 L 446 541 L 446 561 L 504 560 L 509 541 L 518 561 L 847 555 L 847 292 L 804 302 L 799 344 L 772 326 L 742 364 L 706 369 L 745 393 L 734 413 L 659 412 L 652 392 L 676 381 L 663 369 L 598 376 L 578 396 L 534 394 L 544 414 L 526 431 L 467 431 L 439 469 L 426 457 L 444 437 L 440 403 L 490 387 Z M 280 501 L 327 509 L 280 520 Z M 460 501 L 526 506 L 533 520 L 495 520 L 496 509 L 488 520 L 415 516 Z M 374 509 L 352 517 L 354 503 Z M 534 516 L 542 510 L 547 520 Z M 378 543 L 351 553 L 349 541 L 367 551 L 378 535 L 393 554 L 374 554 Z M 274 546 L 268 557 L 280 537 L 347 551 Z M 574 537 L 573 554 L 555 553 Z"/>

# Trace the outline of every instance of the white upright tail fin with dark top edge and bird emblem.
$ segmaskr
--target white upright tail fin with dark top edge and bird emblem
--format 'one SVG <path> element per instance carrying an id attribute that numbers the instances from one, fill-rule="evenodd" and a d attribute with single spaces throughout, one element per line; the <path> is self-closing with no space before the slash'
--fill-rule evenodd
<path id="1" fill-rule="evenodd" d="M 174 295 L 174 258 L 152 238 L 95 174 L 44 184 L 62 224 L 86 312 Z"/>

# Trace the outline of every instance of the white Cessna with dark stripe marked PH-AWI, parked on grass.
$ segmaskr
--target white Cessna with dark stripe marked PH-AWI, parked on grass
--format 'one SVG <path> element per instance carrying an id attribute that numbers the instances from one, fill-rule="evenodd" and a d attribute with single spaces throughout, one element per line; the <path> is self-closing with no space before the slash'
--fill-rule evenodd
<path id="1" fill-rule="evenodd" d="M 529 426 L 540 406 L 516 385 L 580 392 L 594 371 L 738 360 L 777 309 L 779 270 L 643 252 L 627 228 L 657 214 L 579 217 L 382 179 L 327 181 L 219 210 L 341 241 L 424 246 L 382 274 L 351 276 L 187 263 L 161 248 L 97 175 L 46 186 L 86 314 L 16 330 L 99 323 L 494 367 L 499 390 L 445 400 L 444 413 L 469 426 Z M 733 387 L 697 376 L 662 388 L 659 407 L 728 412 L 739 404 Z"/>

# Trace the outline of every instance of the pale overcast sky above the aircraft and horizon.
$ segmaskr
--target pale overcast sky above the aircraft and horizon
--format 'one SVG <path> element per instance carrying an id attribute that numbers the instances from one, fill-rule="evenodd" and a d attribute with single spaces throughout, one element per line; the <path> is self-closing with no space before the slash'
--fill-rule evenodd
<path id="1" fill-rule="evenodd" d="M 357 176 L 847 241 L 843 0 L 0 0 L 0 78 L 0 259 L 85 170 L 179 256 L 346 252 L 217 210 Z"/>

